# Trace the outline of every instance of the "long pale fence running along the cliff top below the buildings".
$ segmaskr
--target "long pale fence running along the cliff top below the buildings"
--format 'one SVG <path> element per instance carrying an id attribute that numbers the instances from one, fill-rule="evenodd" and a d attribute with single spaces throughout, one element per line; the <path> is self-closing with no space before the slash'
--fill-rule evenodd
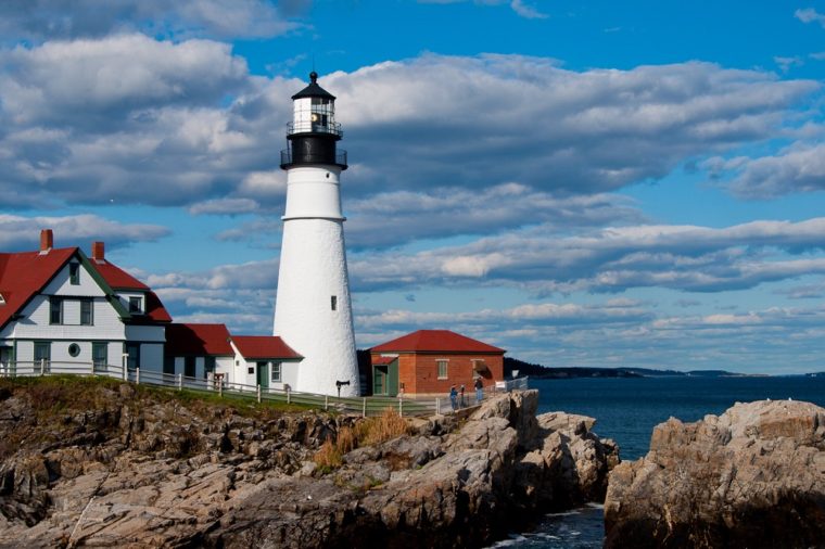
<path id="1" fill-rule="evenodd" d="M 388 408 L 392 408 L 399 416 L 427 417 L 433 414 L 450 413 L 453 411 L 449 398 L 418 398 L 418 397 L 337 397 L 303 393 L 289 388 L 270 388 L 261 385 L 248 385 L 243 383 L 227 382 L 216 378 L 191 378 L 181 373 L 164 373 L 156 370 L 140 368 L 127 368 L 118 365 L 96 365 L 93 362 L 49 361 L 38 362 L 11 362 L 0 365 L 0 376 L 37 376 L 37 375 L 103 375 L 127 381 L 136 384 L 147 384 L 157 387 L 166 387 L 177 391 L 194 391 L 204 394 L 218 394 L 254 399 L 257 403 L 282 403 L 306 406 L 321 410 L 333 410 L 340 413 L 359 414 L 363 417 L 380 416 Z M 504 384 L 504 385 L 502 385 Z M 528 379 L 520 378 L 507 382 L 498 382 L 494 386 L 485 387 L 485 397 L 492 393 L 528 388 Z M 474 395 L 468 393 L 468 400 L 474 403 Z"/>

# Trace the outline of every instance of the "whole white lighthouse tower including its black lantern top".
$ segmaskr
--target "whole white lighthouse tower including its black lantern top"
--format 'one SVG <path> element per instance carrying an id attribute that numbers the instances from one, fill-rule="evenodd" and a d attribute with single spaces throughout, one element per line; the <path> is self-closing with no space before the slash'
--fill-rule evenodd
<path id="1" fill-rule="evenodd" d="M 335 98 L 317 84 L 292 95 L 293 119 L 281 151 L 287 170 L 287 210 L 275 302 L 279 335 L 304 359 L 296 391 L 357 396 L 350 277 L 344 251 L 339 176 L 346 169 L 346 151 L 335 122 Z"/>

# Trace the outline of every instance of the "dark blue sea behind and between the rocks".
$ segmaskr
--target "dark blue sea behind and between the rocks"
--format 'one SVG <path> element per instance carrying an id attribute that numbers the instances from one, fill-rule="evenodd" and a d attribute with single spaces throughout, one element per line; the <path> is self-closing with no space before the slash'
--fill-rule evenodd
<path id="1" fill-rule="evenodd" d="M 647 454 L 653 426 L 674 417 L 696 421 L 736 403 L 792 398 L 825 406 L 825 375 L 817 378 L 580 378 L 531 380 L 540 391 L 538 413 L 566 411 L 596 418 L 593 431 L 614 439 L 622 460 Z M 549 514 L 538 528 L 513 533 L 495 547 L 584 549 L 601 547 L 602 508 L 591 505 Z"/>

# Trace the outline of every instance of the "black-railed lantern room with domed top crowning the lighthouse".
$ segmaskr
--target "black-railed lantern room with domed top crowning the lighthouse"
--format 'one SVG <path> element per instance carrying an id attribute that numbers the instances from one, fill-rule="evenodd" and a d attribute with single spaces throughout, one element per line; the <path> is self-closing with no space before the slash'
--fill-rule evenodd
<path id="1" fill-rule="evenodd" d="M 337 151 L 343 137 L 335 122 L 335 97 L 318 86 L 309 73 L 309 86 L 292 95 L 293 117 L 288 126 L 288 148 L 281 151 L 281 168 L 338 166 L 346 169 L 346 151 Z"/>

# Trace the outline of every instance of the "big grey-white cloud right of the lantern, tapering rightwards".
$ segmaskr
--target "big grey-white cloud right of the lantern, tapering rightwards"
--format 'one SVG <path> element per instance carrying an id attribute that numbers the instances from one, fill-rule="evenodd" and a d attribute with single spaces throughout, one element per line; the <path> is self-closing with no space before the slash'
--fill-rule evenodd
<path id="1" fill-rule="evenodd" d="M 346 146 L 369 155 L 372 177 L 347 174 L 351 184 L 518 181 L 574 193 L 766 138 L 818 88 L 703 63 L 576 73 L 511 55 L 424 55 L 325 81 L 339 94 Z"/>

